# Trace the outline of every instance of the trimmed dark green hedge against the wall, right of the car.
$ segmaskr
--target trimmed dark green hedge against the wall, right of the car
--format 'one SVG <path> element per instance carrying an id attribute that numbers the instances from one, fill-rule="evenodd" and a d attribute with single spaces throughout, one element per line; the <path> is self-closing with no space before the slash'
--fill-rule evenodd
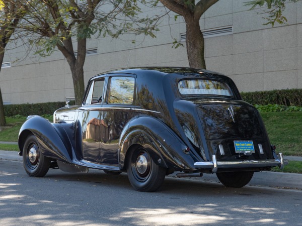
<path id="1" fill-rule="evenodd" d="M 302 89 L 242 92 L 241 97 L 244 101 L 253 105 L 279 104 L 285 106 L 302 106 Z"/>

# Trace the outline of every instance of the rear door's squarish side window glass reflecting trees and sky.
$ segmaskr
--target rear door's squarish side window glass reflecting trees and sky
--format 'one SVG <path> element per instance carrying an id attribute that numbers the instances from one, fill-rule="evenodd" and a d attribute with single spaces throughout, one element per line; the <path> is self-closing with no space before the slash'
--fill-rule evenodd
<path id="1" fill-rule="evenodd" d="M 134 85 L 133 77 L 111 77 L 108 103 L 132 104 Z"/>

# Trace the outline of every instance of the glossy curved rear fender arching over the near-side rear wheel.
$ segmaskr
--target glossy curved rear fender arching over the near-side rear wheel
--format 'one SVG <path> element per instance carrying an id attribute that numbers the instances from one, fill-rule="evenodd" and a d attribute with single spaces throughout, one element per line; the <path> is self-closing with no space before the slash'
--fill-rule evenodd
<path id="1" fill-rule="evenodd" d="M 141 116 L 133 119 L 125 127 L 119 144 L 119 164 L 124 169 L 127 153 L 140 146 L 146 149 L 153 161 L 165 168 L 185 170 L 194 165 L 190 154 L 186 154 L 184 142 L 164 123 Z"/>

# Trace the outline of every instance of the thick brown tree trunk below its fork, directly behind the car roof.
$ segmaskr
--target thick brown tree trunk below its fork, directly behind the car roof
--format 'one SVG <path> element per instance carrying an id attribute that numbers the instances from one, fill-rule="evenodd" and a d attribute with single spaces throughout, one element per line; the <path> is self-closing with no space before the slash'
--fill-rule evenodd
<path id="1" fill-rule="evenodd" d="M 189 65 L 192 68 L 206 69 L 204 60 L 204 39 L 199 26 L 199 20 L 193 15 L 185 17 L 186 44 Z"/>

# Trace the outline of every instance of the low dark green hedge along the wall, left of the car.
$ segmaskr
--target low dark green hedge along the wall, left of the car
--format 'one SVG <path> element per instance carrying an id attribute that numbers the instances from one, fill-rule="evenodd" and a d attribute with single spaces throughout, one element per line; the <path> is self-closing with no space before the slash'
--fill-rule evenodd
<path id="1" fill-rule="evenodd" d="M 31 116 L 31 115 L 43 116 L 45 114 L 53 115 L 53 112 L 56 109 L 64 105 L 65 105 L 64 102 L 11 104 L 11 105 L 5 105 L 4 110 L 6 116 L 14 117 L 15 119 L 20 119 L 22 118 L 22 116 Z"/>

